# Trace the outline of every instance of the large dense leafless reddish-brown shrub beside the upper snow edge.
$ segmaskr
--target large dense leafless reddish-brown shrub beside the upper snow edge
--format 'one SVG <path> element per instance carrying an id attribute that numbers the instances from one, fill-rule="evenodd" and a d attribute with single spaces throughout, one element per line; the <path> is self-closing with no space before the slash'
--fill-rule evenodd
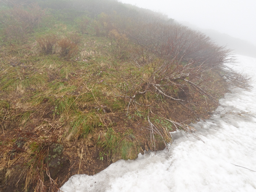
<path id="1" fill-rule="evenodd" d="M 181 25 L 138 22 L 136 27 L 130 28 L 129 37 L 165 60 L 193 60 L 211 67 L 230 60 L 230 50 L 214 44 L 205 34 Z"/>

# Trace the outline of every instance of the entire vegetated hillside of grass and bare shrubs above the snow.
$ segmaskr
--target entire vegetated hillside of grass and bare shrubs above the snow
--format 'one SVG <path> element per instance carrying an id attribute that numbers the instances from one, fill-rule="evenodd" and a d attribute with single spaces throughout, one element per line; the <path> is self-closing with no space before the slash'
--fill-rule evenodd
<path id="1" fill-rule="evenodd" d="M 231 52 L 164 15 L 111 0 L 0 2 L 2 191 L 57 191 L 163 150 L 227 92 Z"/>

